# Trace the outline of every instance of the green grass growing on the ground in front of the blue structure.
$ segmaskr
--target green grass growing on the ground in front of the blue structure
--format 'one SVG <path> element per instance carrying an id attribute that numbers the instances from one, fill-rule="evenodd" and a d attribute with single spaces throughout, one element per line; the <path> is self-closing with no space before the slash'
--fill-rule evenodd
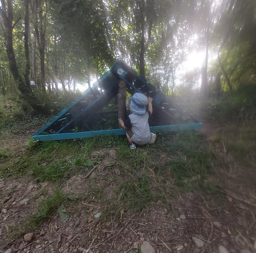
<path id="1" fill-rule="evenodd" d="M 12 121 L 15 125 L 10 124 Z M 19 124 L 25 127 L 29 121 L 29 117 L 13 117 L 8 121 L 8 129 L 7 125 L 1 127 L 7 133 L 17 133 Z M 12 138 L 11 135 L 2 137 L 2 141 Z M 116 158 L 109 157 L 107 151 L 110 149 L 115 151 Z M 99 154 L 92 155 L 96 151 Z M 141 212 L 156 200 L 168 206 L 177 190 L 214 193 L 216 187 L 206 182 L 214 159 L 209 143 L 193 131 L 176 135 L 159 133 L 154 145 L 136 150 L 129 148 L 125 137 L 116 136 L 51 142 L 31 139 L 20 150 L 12 147 L 1 150 L 0 176 L 3 180 L 29 177 L 35 183 L 51 182 L 54 187 L 61 188 L 68 178 L 76 174 L 85 176 L 94 165 L 99 165 L 94 176 L 86 181 L 87 192 L 71 199 L 86 203 L 97 201 L 101 207 L 105 206 L 102 219 L 109 220 L 113 214 L 121 219 L 120 209 L 126 213 Z M 103 164 L 106 165 L 102 168 Z M 115 196 L 108 195 L 110 188 L 114 189 Z M 117 201 L 122 190 L 122 198 Z M 67 199 L 68 195 L 61 190 L 46 195 L 34 214 L 19 226 L 9 226 L 9 240 L 40 226 L 53 212 L 66 219 Z"/>

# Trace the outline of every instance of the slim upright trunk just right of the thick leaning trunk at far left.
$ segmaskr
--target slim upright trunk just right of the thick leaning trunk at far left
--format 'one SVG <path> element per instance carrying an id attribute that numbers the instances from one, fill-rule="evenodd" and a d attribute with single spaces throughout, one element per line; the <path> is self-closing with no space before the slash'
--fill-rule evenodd
<path id="1" fill-rule="evenodd" d="M 25 82 L 28 87 L 30 87 L 29 73 L 30 73 L 30 59 L 29 59 L 29 0 L 24 0 L 25 5 L 25 32 L 24 32 L 24 46 L 25 46 L 25 56 L 26 56 L 26 72 L 25 72 Z"/>

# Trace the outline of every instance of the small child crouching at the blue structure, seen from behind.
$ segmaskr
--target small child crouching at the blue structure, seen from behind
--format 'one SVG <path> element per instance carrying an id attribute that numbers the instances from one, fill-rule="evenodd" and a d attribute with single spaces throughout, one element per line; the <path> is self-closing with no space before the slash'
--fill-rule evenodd
<path id="1" fill-rule="evenodd" d="M 125 120 L 120 118 L 119 124 L 126 129 L 126 137 L 129 141 L 131 149 L 135 149 L 138 145 L 153 144 L 156 140 L 156 134 L 151 133 L 148 125 L 148 118 L 151 116 L 152 98 L 147 97 L 142 93 L 135 93 L 129 98 L 129 106 L 131 114 Z M 148 112 L 146 106 L 148 105 Z"/>

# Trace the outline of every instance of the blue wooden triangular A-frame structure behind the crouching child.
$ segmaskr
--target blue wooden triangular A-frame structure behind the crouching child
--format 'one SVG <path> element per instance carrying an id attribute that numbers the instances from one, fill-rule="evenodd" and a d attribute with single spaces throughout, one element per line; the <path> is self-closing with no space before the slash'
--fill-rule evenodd
<path id="1" fill-rule="evenodd" d="M 154 85 L 148 83 L 135 70 L 128 67 L 123 61 L 118 60 L 110 71 L 107 71 L 83 95 L 62 110 L 49 123 L 45 124 L 33 137 L 36 140 L 49 141 L 124 135 L 125 129 L 104 129 L 100 125 L 101 130 L 95 130 L 95 126 L 89 126 L 90 122 L 99 120 L 99 117 L 102 120 L 102 115 L 106 115 L 102 108 L 117 96 L 119 80 L 125 81 L 127 91 L 131 95 L 140 92 L 153 98 L 153 114 L 149 121 L 151 132 L 197 130 L 201 128 L 202 124 L 180 106 L 175 105 L 170 97 L 165 96 L 162 91 L 157 90 Z M 95 117 L 96 114 L 98 119 Z M 115 120 L 118 122 L 117 116 Z"/>

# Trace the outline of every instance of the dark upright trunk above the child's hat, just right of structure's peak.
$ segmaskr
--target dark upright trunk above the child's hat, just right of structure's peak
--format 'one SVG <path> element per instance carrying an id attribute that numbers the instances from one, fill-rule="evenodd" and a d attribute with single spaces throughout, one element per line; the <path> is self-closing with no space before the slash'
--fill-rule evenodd
<path id="1" fill-rule="evenodd" d="M 145 52 L 146 52 L 146 46 L 145 46 L 145 17 L 144 17 L 144 5 L 145 3 L 142 3 L 142 5 L 139 5 L 140 8 L 140 23 L 141 23 L 141 51 L 140 51 L 140 57 L 139 57 L 139 64 L 140 64 L 140 75 L 145 77 Z"/>

